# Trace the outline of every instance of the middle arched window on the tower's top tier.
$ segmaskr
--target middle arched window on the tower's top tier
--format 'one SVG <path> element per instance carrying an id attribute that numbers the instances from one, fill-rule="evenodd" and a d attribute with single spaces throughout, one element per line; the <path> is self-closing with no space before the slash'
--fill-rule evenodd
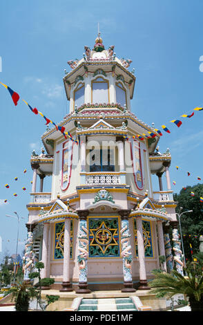
<path id="1" fill-rule="evenodd" d="M 97 77 L 92 81 L 92 103 L 107 104 L 108 102 L 108 80 Z"/>

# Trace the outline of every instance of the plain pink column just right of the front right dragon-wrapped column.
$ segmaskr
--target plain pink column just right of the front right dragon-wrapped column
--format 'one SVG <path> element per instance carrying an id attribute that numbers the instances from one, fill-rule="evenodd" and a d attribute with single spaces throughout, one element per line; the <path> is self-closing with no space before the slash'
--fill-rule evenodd
<path id="1" fill-rule="evenodd" d="M 150 287 L 146 281 L 146 266 L 144 260 L 144 237 L 142 230 L 142 216 L 136 216 L 137 250 L 139 259 L 139 290 L 148 290 Z"/>

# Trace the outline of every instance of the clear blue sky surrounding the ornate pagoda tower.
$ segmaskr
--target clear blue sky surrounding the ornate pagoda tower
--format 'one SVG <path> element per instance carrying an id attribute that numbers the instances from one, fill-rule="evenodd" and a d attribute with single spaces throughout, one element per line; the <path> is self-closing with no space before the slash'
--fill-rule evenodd
<path id="1" fill-rule="evenodd" d="M 165 124 L 171 130 L 171 134 L 164 133 L 159 145 L 161 152 L 171 150 L 171 183 L 175 180 L 172 187 L 180 192 L 183 186 L 195 185 L 197 176 L 203 179 L 203 111 L 195 112 L 191 119 L 180 118 L 203 105 L 202 9 L 202 0 L 1 1 L 0 81 L 60 122 L 69 109 L 62 82 L 64 68 L 70 71 L 67 61 L 80 59 L 84 46 L 93 47 L 99 22 L 106 48 L 114 44 L 117 57 L 133 60 L 129 68 L 135 68 L 137 77 L 133 113 L 148 124 L 154 122 L 157 129 Z M 33 149 L 40 154 L 46 126 L 21 100 L 15 107 L 3 86 L 0 118 L 2 257 L 5 252 L 15 252 L 17 220 L 6 217 L 14 211 L 26 217 L 19 234 L 19 253 L 23 250 L 32 180 L 30 154 Z M 178 118 L 183 122 L 180 128 L 170 123 Z M 14 181 L 14 177 L 19 179 Z M 153 180 L 157 189 L 158 180 Z M 45 180 L 44 190 L 50 191 L 50 179 Z M 3 203 L 5 198 L 8 204 Z"/>

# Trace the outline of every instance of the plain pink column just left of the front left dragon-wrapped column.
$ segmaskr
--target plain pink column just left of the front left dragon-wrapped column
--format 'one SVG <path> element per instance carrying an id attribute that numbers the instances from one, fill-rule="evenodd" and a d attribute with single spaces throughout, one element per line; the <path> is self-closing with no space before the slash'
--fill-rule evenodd
<path id="1" fill-rule="evenodd" d="M 70 218 L 65 219 L 64 225 L 64 276 L 60 291 L 72 291 L 70 288 Z"/>

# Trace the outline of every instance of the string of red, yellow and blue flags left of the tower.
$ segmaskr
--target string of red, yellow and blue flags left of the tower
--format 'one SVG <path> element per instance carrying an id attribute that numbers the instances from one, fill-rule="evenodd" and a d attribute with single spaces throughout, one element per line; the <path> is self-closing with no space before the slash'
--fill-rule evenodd
<path id="1" fill-rule="evenodd" d="M 17 106 L 18 101 L 20 99 L 19 94 L 16 93 L 15 91 L 13 91 L 8 85 L 3 84 L 2 82 L 0 82 L 0 84 L 2 84 L 6 89 L 8 89 L 8 91 L 12 97 L 12 101 L 14 102 L 14 105 Z M 23 100 L 23 102 L 26 103 L 26 105 L 29 107 L 29 109 L 30 109 L 30 111 L 32 111 L 32 113 L 35 113 L 35 115 L 38 115 L 38 114 L 41 115 L 44 118 L 44 120 L 46 120 L 46 125 L 48 125 L 49 123 L 52 123 L 56 127 L 57 131 L 61 131 L 64 138 L 66 138 L 66 139 L 70 138 L 70 140 L 72 140 L 72 142 L 75 142 L 78 145 L 78 143 L 79 143 L 78 140 L 75 140 L 74 138 L 72 138 L 70 132 L 65 131 L 65 127 L 57 127 L 57 124 L 55 124 L 55 122 L 50 120 L 50 118 L 46 118 L 46 116 L 43 115 L 43 113 L 41 113 L 40 111 L 38 111 L 38 109 L 36 107 L 33 109 L 32 106 L 30 106 L 30 104 L 28 104 L 28 102 L 26 102 L 26 100 Z"/>

